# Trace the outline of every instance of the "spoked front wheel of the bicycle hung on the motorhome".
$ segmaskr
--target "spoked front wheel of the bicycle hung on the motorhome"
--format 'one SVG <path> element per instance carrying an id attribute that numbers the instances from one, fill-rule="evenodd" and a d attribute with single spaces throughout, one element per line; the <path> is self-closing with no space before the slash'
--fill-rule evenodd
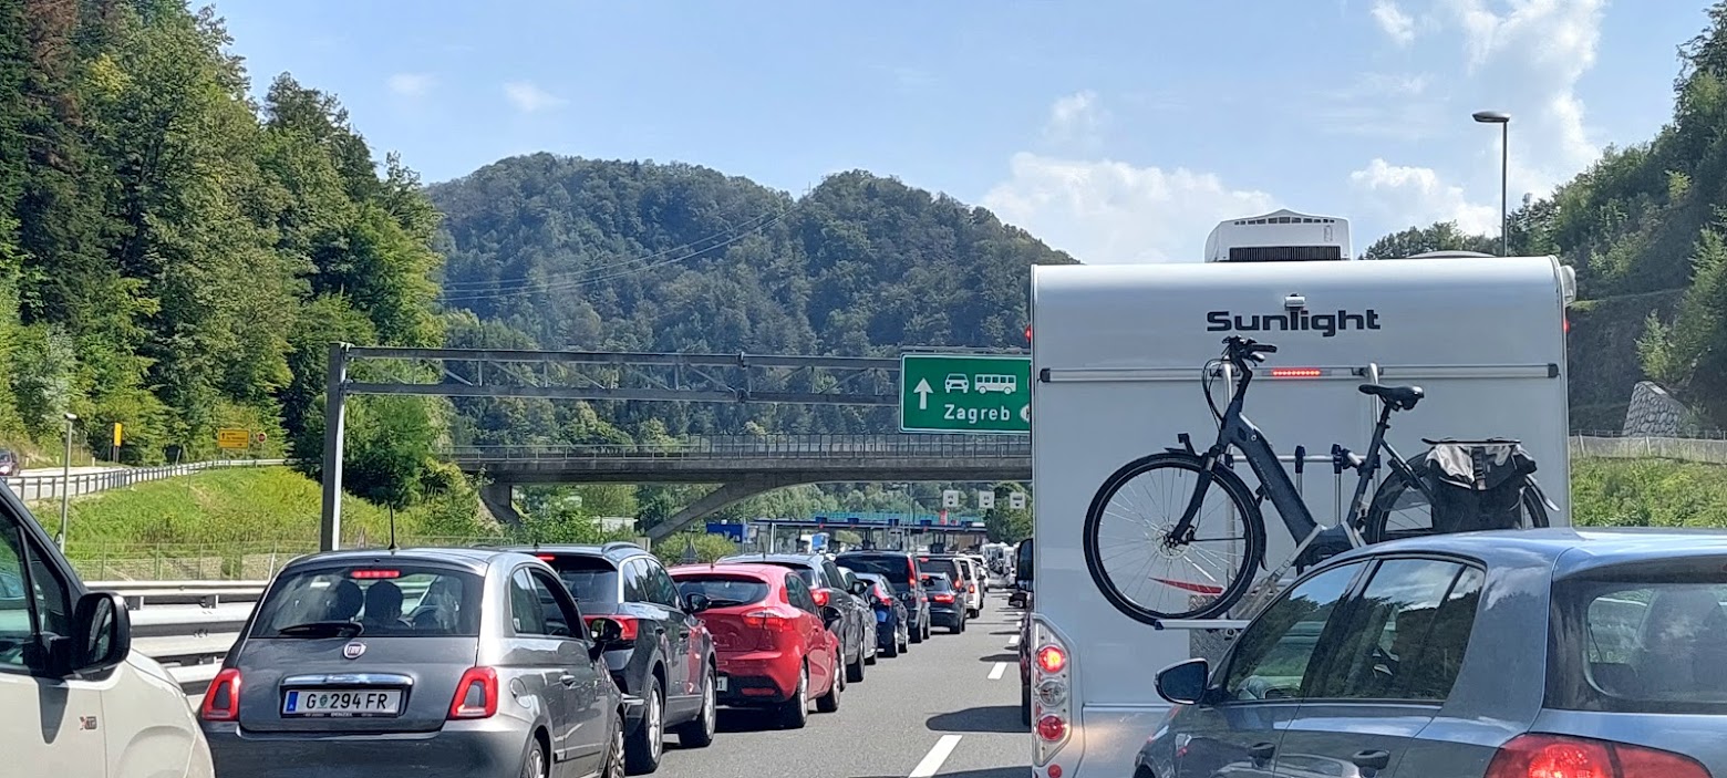
<path id="1" fill-rule="evenodd" d="M 1197 455 L 1152 454 L 1112 473 L 1091 499 L 1085 566 L 1109 604 L 1135 621 L 1212 618 L 1254 583 L 1252 571 L 1266 554 L 1266 524 L 1252 492 L 1228 469 L 1212 473 L 1193 540 L 1167 543 L 1199 474 Z"/>

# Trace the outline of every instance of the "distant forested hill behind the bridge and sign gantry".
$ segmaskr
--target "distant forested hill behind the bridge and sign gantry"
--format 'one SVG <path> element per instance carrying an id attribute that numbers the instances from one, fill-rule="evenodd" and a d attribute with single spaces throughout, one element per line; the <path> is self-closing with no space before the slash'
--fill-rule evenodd
<path id="1" fill-rule="evenodd" d="M 869 173 L 793 197 L 689 164 L 535 154 L 428 190 L 444 212 L 452 345 L 896 354 L 1022 347 L 1033 264 L 1067 264 L 984 209 Z M 580 407 L 458 404 L 463 435 L 596 433 Z M 535 409 L 537 407 L 537 409 Z M 504 411 L 501 416 L 497 411 Z M 853 409 L 608 407 L 670 433 L 881 431 Z M 554 428 L 527 423 L 561 414 Z M 636 433 L 636 430 L 625 430 Z M 610 431 L 603 431 L 610 435 Z"/>

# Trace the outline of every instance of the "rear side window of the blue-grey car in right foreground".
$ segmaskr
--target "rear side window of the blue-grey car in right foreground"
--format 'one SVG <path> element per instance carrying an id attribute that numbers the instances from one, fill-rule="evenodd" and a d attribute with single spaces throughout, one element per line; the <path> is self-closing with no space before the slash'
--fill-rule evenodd
<path id="1" fill-rule="evenodd" d="M 1463 668 L 1482 571 L 1432 559 L 1390 559 L 1349 607 L 1309 697 L 1444 700 Z"/>

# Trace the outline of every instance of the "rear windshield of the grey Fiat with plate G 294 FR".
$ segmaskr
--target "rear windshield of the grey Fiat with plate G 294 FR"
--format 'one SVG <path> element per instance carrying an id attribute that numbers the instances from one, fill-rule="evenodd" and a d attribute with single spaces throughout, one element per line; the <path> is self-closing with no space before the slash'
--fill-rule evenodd
<path id="1" fill-rule="evenodd" d="M 484 581 L 389 564 L 287 571 L 257 607 L 254 638 L 475 637 Z"/>

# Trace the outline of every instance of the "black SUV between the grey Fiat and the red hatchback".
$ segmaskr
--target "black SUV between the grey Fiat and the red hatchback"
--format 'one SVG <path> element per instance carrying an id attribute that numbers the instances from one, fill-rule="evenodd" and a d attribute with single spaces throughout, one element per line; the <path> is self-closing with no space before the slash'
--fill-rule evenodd
<path id="1" fill-rule="evenodd" d="M 627 645 L 606 652 L 606 669 L 618 688 L 642 699 L 625 723 L 630 775 L 660 769 L 667 730 L 686 749 L 712 743 L 718 664 L 713 635 L 696 618 L 708 607 L 706 597 L 682 597 L 665 566 L 636 543 L 520 550 L 558 571 L 582 616 L 606 618 L 623 628 Z"/>

